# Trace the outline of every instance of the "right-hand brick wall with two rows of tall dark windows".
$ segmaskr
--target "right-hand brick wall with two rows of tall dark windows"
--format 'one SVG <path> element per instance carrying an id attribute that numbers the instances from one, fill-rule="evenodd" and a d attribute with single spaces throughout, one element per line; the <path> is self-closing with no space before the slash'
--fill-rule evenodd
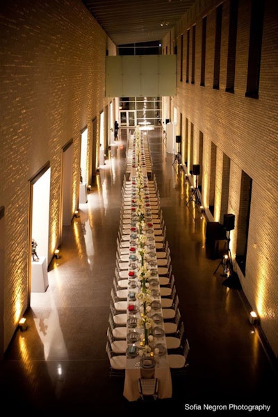
<path id="1" fill-rule="evenodd" d="M 206 3 L 206 6 L 204 5 Z M 236 73 L 234 94 L 225 92 L 227 78 L 229 0 L 222 2 L 222 33 L 220 55 L 220 88 L 213 87 L 215 8 L 218 1 L 197 1 L 183 17 L 177 32 L 177 44 L 183 33 L 183 71 L 186 71 L 186 31 L 196 24 L 195 84 L 183 82 L 177 76 L 177 96 L 174 106 L 183 120 L 193 124 L 195 131 L 204 133 L 202 197 L 208 211 L 210 201 L 211 143 L 217 147 L 215 181 L 215 221 L 222 221 L 223 187 L 222 161 L 224 154 L 230 159 L 227 212 L 234 213 L 236 227 L 231 231 L 231 253 L 236 256 L 238 213 L 240 210 L 241 173 L 252 179 L 252 201 L 247 263 L 245 276 L 237 270 L 243 291 L 252 309 L 259 313 L 261 327 L 275 354 L 278 354 L 278 286 L 277 286 L 277 133 L 278 133 L 278 72 L 277 72 L 277 6 L 275 0 L 265 1 L 259 99 L 245 97 L 250 34 L 251 1 L 238 2 L 238 30 L 236 47 Z M 206 7 L 206 8 L 205 8 Z M 275 12 L 276 10 L 276 12 Z M 202 17 L 206 14 L 206 72 L 205 86 L 200 86 Z M 167 40 L 166 40 L 167 42 Z M 165 44 L 163 44 L 165 48 Z M 178 49 L 179 51 L 179 49 Z M 190 45 L 189 65 L 192 47 Z M 178 55 L 178 70 L 181 68 Z M 189 72 L 190 73 L 190 72 Z M 177 127 L 179 130 L 179 126 Z M 185 129 L 184 129 L 185 130 Z M 190 135 L 190 132 L 188 132 Z M 187 135 L 187 136 L 188 136 Z M 184 135 L 186 136 L 186 135 Z M 191 138 L 186 138 L 190 143 Z M 199 144 L 194 135 L 193 161 L 197 163 Z M 190 147 L 182 145 L 182 149 Z M 189 154 L 184 160 L 188 160 Z M 227 193 L 227 190 L 224 190 Z M 208 213 L 209 214 L 209 213 Z M 236 263 L 235 263 L 235 268 Z"/>

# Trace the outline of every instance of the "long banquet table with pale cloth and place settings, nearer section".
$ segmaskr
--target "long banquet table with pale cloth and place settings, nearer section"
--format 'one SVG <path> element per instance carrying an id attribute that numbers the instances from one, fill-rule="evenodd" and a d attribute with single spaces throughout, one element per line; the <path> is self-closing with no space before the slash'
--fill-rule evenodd
<path id="1" fill-rule="evenodd" d="M 149 185 L 147 175 L 144 176 L 144 198 L 145 198 L 145 235 L 147 241 L 145 245 L 145 255 L 147 267 L 150 270 L 149 290 L 152 297 L 148 316 L 152 318 L 154 325 L 149 338 L 151 338 L 152 352 L 149 353 L 149 363 L 154 362 L 154 368 L 144 368 L 144 362 L 140 353 L 143 350 L 142 338 L 144 336 L 142 326 L 140 326 L 140 303 L 136 299 L 136 294 L 140 291 L 140 280 L 138 279 L 138 234 L 136 230 L 136 182 L 135 177 L 131 177 L 131 187 L 125 190 L 124 200 L 131 204 L 125 204 L 124 213 L 130 214 L 130 256 L 129 256 L 129 281 L 128 281 L 128 306 L 127 306 L 127 325 L 126 325 L 126 370 L 124 379 L 124 397 L 129 401 L 140 398 L 138 390 L 138 379 L 140 377 L 156 377 L 158 379 L 158 398 L 172 397 L 172 379 L 169 363 L 167 361 L 167 347 L 165 341 L 165 329 L 161 308 L 161 293 L 158 281 L 158 269 L 156 263 L 156 248 L 154 245 L 154 227 L 152 222 L 152 206 L 149 203 Z M 132 198 L 133 197 L 133 198 Z M 146 359 L 146 357 L 145 357 Z"/>

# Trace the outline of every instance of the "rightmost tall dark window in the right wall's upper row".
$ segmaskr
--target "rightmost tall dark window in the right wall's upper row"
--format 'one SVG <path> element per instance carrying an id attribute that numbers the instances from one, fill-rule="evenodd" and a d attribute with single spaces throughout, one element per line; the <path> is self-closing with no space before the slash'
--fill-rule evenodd
<path id="1" fill-rule="evenodd" d="M 252 0 L 247 87 L 245 97 L 259 98 L 264 1 Z"/>

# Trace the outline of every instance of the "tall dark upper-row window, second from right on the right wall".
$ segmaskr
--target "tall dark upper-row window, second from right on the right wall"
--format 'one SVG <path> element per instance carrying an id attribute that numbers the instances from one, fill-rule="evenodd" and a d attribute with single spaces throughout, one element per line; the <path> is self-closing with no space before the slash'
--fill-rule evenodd
<path id="1" fill-rule="evenodd" d="M 234 92 L 237 28 L 238 28 L 238 0 L 231 0 L 230 1 L 230 18 L 229 18 L 227 81 L 226 81 L 227 92 Z"/>

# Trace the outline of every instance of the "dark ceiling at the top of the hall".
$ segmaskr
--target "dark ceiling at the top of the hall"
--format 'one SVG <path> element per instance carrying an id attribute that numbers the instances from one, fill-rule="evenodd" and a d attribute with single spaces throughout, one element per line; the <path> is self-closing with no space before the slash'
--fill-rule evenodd
<path id="1" fill-rule="evenodd" d="M 116 45 L 162 40 L 196 0 L 82 0 Z"/>

